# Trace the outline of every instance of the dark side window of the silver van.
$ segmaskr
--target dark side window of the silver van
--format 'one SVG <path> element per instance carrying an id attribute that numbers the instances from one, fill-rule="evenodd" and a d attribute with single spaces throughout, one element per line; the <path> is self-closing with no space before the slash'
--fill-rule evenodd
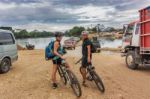
<path id="1" fill-rule="evenodd" d="M 0 32 L 0 45 L 5 44 L 14 44 L 15 40 L 13 39 L 12 34 Z"/>

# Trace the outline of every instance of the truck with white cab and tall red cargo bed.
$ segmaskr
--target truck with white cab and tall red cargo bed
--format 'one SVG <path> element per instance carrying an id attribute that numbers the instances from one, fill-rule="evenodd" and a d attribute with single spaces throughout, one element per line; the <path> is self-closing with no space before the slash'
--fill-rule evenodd
<path id="1" fill-rule="evenodd" d="M 122 56 L 130 69 L 150 65 L 150 6 L 139 10 L 139 21 L 124 25 Z"/>

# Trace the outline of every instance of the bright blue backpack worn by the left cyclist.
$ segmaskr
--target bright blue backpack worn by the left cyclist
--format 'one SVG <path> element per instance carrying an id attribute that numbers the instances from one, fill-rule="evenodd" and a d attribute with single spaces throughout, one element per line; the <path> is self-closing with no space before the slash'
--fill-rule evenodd
<path id="1" fill-rule="evenodd" d="M 45 48 L 45 59 L 51 60 L 54 57 L 53 54 L 54 41 L 51 41 Z"/>

